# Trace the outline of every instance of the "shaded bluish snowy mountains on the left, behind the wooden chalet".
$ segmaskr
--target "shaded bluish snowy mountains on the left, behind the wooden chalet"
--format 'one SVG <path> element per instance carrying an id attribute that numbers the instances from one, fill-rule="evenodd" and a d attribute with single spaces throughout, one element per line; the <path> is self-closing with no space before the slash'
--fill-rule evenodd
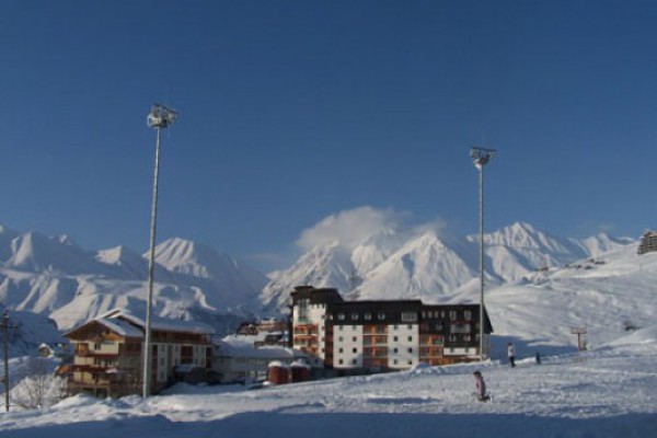
<path id="1" fill-rule="evenodd" d="M 153 306 L 161 316 L 239 312 L 267 284 L 256 269 L 208 246 L 170 239 L 155 249 Z M 126 246 L 99 252 L 67 237 L 0 228 L 0 304 L 69 328 L 113 308 L 146 309 L 148 258 Z"/>

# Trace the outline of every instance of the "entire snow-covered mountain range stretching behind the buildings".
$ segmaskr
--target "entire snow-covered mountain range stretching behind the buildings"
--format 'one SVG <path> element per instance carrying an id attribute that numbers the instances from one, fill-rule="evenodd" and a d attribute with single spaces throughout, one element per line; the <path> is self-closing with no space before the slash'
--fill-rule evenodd
<path id="1" fill-rule="evenodd" d="M 514 223 L 484 235 L 486 283 L 520 285 L 538 272 L 633 247 L 598 234 L 561 239 Z M 87 251 L 69 237 L 0 227 L 0 304 L 57 322 L 60 330 L 113 308 L 146 310 L 147 255 L 126 246 Z M 180 238 L 155 247 L 154 313 L 201 320 L 220 332 L 253 315 L 288 311 L 295 286 L 335 287 L 346 299 L 469 300 L 479 285 L 479 237 L 439 230 L 379 230 L 359 241 L 332 240 L 288 269 L 260 273 L 207 245 Z"/>

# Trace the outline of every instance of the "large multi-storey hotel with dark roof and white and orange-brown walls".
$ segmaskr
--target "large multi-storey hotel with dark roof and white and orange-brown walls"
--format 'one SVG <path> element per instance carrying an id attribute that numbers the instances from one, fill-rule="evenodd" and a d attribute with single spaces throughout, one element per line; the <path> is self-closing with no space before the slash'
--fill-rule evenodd
<path id="1" fill-rule="evenodd" d="M 480 358 L 479 304 L 344 301 L 336 289 L 313 287 L 291 295 L 293 348 L 315 369 L 380 372 Z M 493 327 L 485 311 L 484 320 L 487 356 Z"/>

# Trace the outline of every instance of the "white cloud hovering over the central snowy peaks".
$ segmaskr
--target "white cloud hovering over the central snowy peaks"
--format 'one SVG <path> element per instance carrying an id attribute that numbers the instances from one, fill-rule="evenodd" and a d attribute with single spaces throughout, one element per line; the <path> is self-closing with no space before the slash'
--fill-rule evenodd
<path id="1" fill-rule="evenodd" d="M 410 214 L 391 208 L 357 207 L 331 215 L 303 230 L 297 244 L 310 250 L 337 241 L 343 246 L 354 247 L 383 230 L 399 230 L 408 217 Z"/>

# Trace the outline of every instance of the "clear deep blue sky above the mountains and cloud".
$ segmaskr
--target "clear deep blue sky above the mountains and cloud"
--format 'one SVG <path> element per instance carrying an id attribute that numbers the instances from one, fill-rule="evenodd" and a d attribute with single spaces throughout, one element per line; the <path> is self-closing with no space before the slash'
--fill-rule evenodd
<path id="1" fill-rule="evenodd" d="M 2 1 L 0 223 L 146 251 L 159 235 L 264 268 L 359 206 L 487 228 L 657 226 L 652 1 Z M 283 263 L 283 262 L 278 262 Z"/>

